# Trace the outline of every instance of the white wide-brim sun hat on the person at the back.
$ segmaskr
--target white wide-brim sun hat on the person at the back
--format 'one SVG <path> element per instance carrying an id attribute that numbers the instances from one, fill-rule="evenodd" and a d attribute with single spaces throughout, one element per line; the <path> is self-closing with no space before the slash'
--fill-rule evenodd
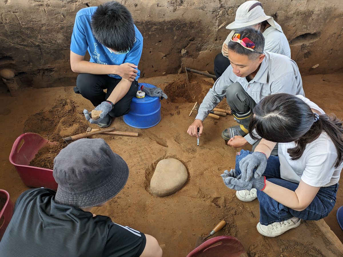
<path id="1" fill-rule="evenodd" d="M 265 15 L 262 4 L 259 1 L 246 1 L 241 4 L 237 9 L 235 21 L 227 25 L 226 28 L 236 30 L 253 26 L 263 21 L 267 21 L 270 26 L 283 32 L 281 26 L 274 22 L 273 17 Z"/>

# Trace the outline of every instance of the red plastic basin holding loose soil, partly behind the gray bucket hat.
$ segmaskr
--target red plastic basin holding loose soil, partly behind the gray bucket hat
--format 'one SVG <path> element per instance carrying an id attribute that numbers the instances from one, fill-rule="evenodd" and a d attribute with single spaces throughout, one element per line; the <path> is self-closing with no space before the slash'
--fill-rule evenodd
<path id="1" fill-rule="evenodd" d="M 36 133 L 25 133 L 15 140 L 10 154 L 10 162 L 18 171 L 25 185 L 33 188 L 57 189 L 51 169 L 29 166 L 39 149 L 49 143 L 52 142 Z"/>

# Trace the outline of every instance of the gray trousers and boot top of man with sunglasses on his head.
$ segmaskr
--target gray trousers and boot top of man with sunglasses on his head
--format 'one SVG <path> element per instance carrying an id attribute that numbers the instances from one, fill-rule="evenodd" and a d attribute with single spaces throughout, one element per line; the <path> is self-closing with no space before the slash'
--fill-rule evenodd
<path id="1" fill-rule="evenodd" d="M 237 123 L 248 129 L 250 121 L 253 117 L 252 110 L 256 106 L 256 102 L 238 82 L 232 83 L 227 88 L 226 101 L 231 108 L 232 114 L 235 115 L 235 120 Z M 252 145 L 252 151 L 255 150 L 260 141 L 261 139 Z M 277 156 L 277 144 L 275 145 L 271 155 Z"/>

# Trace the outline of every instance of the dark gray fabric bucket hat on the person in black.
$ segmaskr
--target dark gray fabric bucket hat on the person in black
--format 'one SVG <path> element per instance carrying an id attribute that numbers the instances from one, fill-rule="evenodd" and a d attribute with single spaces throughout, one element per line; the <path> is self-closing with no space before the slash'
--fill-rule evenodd
<path id="1" fill-rule="evenodd" d="M 79 208 L 93 207 L 123 189 L 129 168 L 103 139 L 79 139 L 54 159 L 52 173 L 58 183 L 57 203 Z"/>

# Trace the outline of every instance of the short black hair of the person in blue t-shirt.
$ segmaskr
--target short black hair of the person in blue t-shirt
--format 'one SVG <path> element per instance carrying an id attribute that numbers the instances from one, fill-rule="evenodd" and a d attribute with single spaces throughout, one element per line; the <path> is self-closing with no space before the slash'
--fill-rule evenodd
<path id="1" fill-rule="evenodd" d="M 132 49 L 135 41 L 134 24 L 129 10 L 110 1 L 99 5 L 92 15 L 92 33 L 104 46 L 118 52 Z"/>

